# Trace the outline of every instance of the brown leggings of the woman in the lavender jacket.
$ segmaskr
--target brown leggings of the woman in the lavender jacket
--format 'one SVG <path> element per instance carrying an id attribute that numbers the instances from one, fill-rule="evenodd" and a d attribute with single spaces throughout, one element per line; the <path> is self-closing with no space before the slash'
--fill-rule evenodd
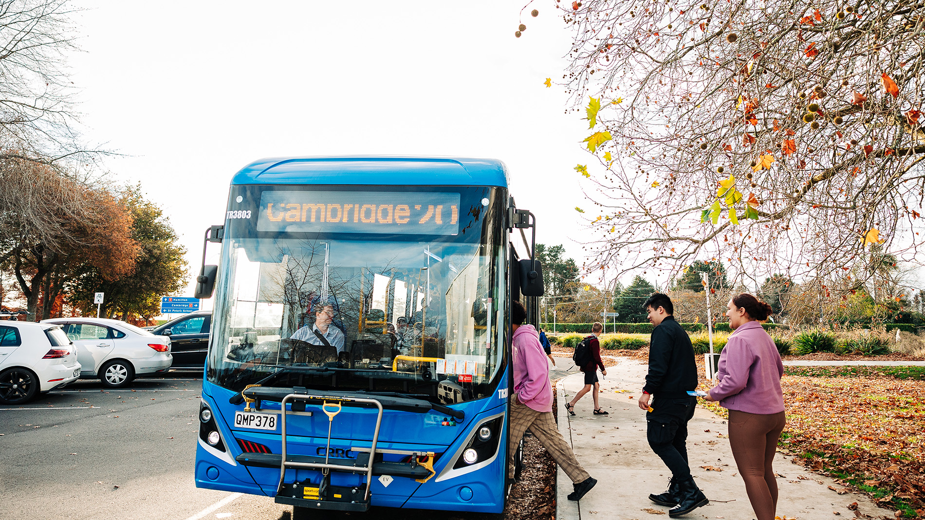
<path id="1" fill-rule="evenodd" d="M 760 415 L 729 410 L 729 445 L 758 520 L 774 520 L 777 511 L 777 480 L 771 463 L 785 423 L 783 412 Z"/>

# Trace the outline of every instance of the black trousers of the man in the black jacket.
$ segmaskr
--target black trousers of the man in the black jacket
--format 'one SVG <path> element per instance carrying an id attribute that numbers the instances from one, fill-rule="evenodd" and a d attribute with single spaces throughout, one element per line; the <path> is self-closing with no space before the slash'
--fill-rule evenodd
<path id="1" fill-rule="evenodd" d="M 687 421 L 694 417 L 696 406 L 697 397 L 656 397 L 652 404 L 655 411 L 646 413 L 648 445 L 676 479 L 691 476 L 691 468 L 687 465 Z"/>

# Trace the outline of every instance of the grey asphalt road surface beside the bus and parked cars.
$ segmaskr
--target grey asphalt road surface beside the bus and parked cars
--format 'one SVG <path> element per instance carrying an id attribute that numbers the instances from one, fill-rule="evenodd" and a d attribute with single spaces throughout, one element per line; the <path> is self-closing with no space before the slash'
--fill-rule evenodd
<path id="1" fill-rule="evenodd" d="M 195 487 L 202 387 L 201 372 L 171 371 L 119 391 L 77 381 L 28 405 L 0 405 L 0 520 L 290 520 L 292 508 L 271 498 Z M 435 515 L 489 517 L 388 508 L 333 517 Z"/>

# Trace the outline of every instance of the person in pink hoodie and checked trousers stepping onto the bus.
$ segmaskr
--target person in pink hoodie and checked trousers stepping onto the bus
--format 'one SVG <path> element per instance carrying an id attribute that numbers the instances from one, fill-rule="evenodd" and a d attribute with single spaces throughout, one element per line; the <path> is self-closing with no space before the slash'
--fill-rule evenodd
<path id="1" fill-rule="evenodd" d="M 572 479 L 574 491 L 569 500 L 580 500 L 598 483 L 585 468 L 578 464 L 572 448 L 559 433 L 552 417 L 552 385 L 549 383 L 549 365 L 546 352 L 539 343 L 539 334 L 533 325 L 524 325 L 526 310 L 520 302 L 512 302 L 513 322 L 512 368 L 514 388 L 510 398 L 508 428 L 508 478 L 514 478 L 514 453 L 529 429 L 562 471 Z"/>

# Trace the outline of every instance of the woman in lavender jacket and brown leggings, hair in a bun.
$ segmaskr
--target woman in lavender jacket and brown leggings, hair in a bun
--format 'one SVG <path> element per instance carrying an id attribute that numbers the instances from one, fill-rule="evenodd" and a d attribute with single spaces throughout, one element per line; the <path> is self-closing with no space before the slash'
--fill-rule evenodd
<path id="1" fill-rule="evenodd" d="M 728 307 L 726 316 L 734 333 L 720 355 L 719 383 L 706 399 L 729 409 L 729 444 L 746 482 L 748 500 L 758 520 L 774 520 L 777 480 L 771 462 L 785 423 L 783 363 L 771 336 L 758 322 L 768 319 L 771 306 L 741 294 Z"/>

